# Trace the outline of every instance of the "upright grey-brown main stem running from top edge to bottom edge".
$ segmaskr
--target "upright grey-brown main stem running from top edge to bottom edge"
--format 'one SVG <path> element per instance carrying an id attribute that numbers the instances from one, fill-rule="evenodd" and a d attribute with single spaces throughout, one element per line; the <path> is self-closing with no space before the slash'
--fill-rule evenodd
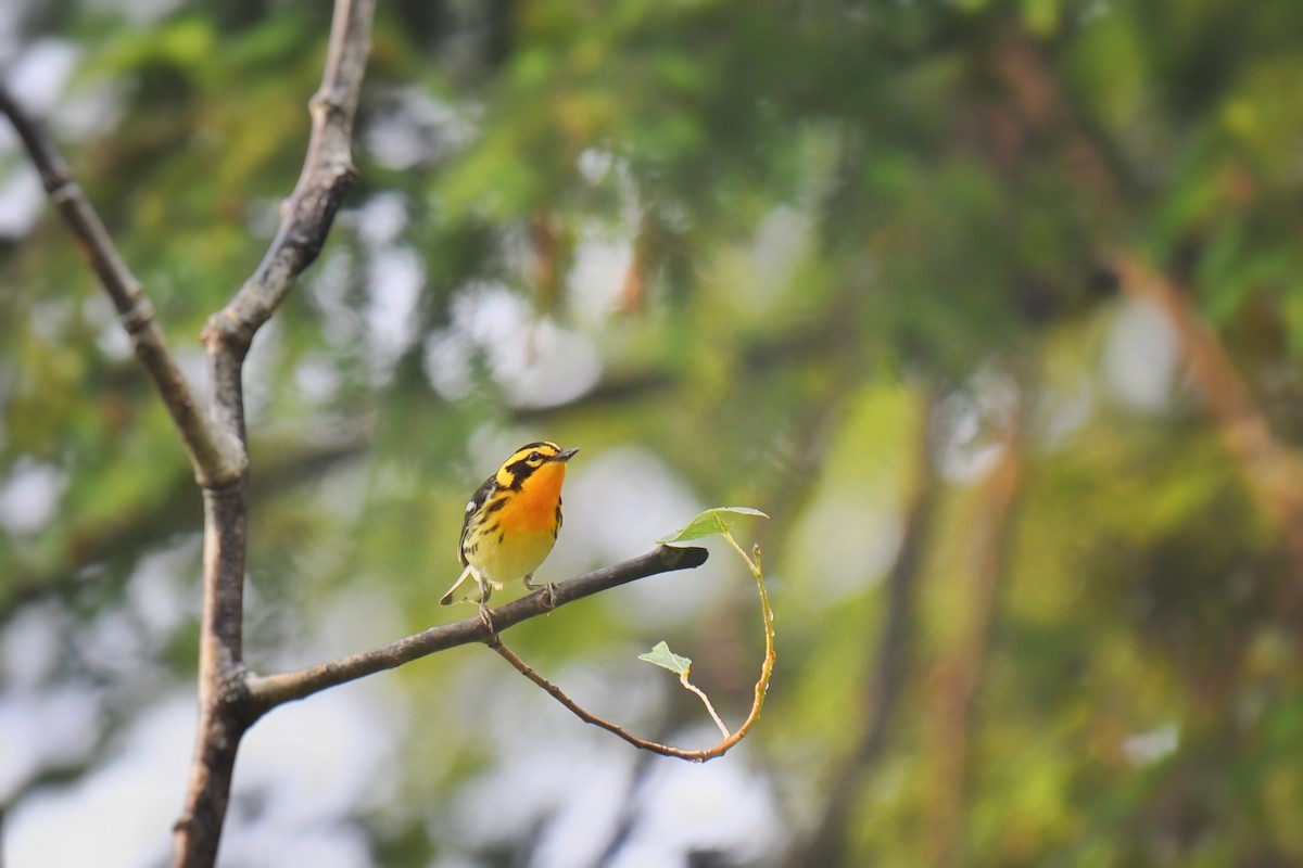
<path id="1" fill-rule="evenodd" d="M 352 185 L 353 116 L 371 44 L 374 0 L 337 0 L 322 83 L 310 100 L 313 131 L 298 182 L 267 255 L 222 311 L 203 344 L 210 370 L 210 422 L 245 446 L 244 359 L 254 334 L 321 252 Z M 248 549 L 248 462 L 233 479 L 205 484 L 203 614 L 199 635 L 199 726 L 185 807 L 175 826 L 173 865 L 216 861 L 240 739 L 261 709 L 244 668 L 244 575 Z"/>

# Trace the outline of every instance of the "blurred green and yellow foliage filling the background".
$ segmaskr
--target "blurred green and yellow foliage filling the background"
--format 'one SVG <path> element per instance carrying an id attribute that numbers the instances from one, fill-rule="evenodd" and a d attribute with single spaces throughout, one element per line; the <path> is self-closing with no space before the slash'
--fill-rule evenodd
<path id="1" fill-rule="evenodd" d="M 202 379 L 195 336 L 297 177 L 328 10 L 151 8 L 30 4 L 21 40 L 79 52 L 47 115 Z M 1291 0 L 380 4 L 360 181 L 248 370 L 251 665 L 293 657 L 349 590 L 392 597 L 409 630 L 446 617 L 465 495 L 516 441 L 582 445 L 576 478 L 633 445 L 700 502 L 773 517 L 779 665 L 748 756 L 803 794 L 784 846 L 851 774 L 827 830 L 846 864 L 1303 861 L 1303 565 L 1207 383 L 1119 383 L 1170 364 L 1171 327 L 1124 331 L 1154 308 L 1109 275 L 1126 254 L 1179 282 L 1293 461 L 1299 33 Z M 0 178 L 23 170 L 0 155 Z M 93 622 L 142 557 L 199 530 L 116 329 L 52 211 L 0 242 L 4 623 L 51 600 Z M 590 383 L 556 360 L 576 346 Z M 1001 511 L 989 480 L 1010 461 Z M 14 492 L 35 471 L 55 501 L 29 522 Z M 881 579 L 920 485 L 938 500 L 906 687 L 860 768 L 847 757 L 883 711 L 864 700 Z M 749 584 L 731 587 L 670 640 L 744 711 L 760 638 Z M 614 606 L 525 625 L 520 644 L 541 666 L 646 647 Z M 146 649 L 169 673 L 155 690 L 190 677 L 193 630 Z M 427 730 L 401 748 L 403 798 L 429 804 L 493 756 L 440 701 L 468 664 L 444 657 L 397 677 Z M 657 725 L 694 714 L 671 704 Z M 362 821 L 386 864 L 443 851 L 409 809 Z"/>

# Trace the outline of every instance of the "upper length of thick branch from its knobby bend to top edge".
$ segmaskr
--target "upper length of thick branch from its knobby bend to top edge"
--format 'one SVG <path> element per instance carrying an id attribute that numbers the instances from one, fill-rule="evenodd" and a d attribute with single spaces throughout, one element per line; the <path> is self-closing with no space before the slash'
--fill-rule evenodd
<path id="1" fill-rule="evenodd" d="M 321 252 L 344 194 L 353 183 L 353 116 L 371 46 L 374 0 L 339 0 L 321 87 L 309 109 L 313 133 L 293 194 L 267 255 L 236 297 L 205 327 L 205 341 L 238 357 Z"/>

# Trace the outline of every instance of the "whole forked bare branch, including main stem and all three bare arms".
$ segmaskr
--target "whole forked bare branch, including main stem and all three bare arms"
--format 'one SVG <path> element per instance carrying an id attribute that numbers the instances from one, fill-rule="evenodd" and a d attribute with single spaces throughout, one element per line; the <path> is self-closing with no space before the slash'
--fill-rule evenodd
<path id="1" fill-rule="evenodd" d="M 259 677 L 244 665 L 249 467 L 244 359 L 258 329 L 275 314 L 298 275 L 317 259 L 356 176 L 351 141 L 373 16 L 374 0 L 336 0 L 322 85 L 310 100 L 313 131 L 308 154 L 284 206 L 280 228 L 253 276 L 208 319 L 202 332 L 210 366 L 207 413 L 168 350 L 143 288 L 126 269 L 63 157 L 0 85 L 0 111 L 13 121 L 51 200 L 82 242 L 113 299 L 137 355 L 185 441 L 203 489 L 199 724 L 184 808 L 173 829 L 176 868 L 210 868 L 216 863 L 240 740 L 267 711 L 435 651 L 495 638 L 474 617 L 298 671 Z M 504 630 L 599 591 L 658 573 L 696 567 L 705 560 L 705 549 L 659 547 L 496 609 L 494 627 Z"/>

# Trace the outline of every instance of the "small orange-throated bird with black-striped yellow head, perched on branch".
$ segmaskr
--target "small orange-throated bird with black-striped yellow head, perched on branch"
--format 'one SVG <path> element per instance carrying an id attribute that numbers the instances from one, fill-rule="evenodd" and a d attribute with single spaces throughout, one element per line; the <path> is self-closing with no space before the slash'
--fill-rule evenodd
<path id="1" fill-rule="evenodd" d="M 536 588 L 534 570 L 551 553 L 562 530 L 562 483 L 566 462 L 579 449 L 562 449 L 554 442 L 528 442 L 502 463 L 493 476 L 470 496 L 461 523 L 461 576 L 439 600 L 452 603 L 452 595 L 466 579 L 474 579 L 483 613 L 489 595 L 507 582 L 525 579 Z"/>

